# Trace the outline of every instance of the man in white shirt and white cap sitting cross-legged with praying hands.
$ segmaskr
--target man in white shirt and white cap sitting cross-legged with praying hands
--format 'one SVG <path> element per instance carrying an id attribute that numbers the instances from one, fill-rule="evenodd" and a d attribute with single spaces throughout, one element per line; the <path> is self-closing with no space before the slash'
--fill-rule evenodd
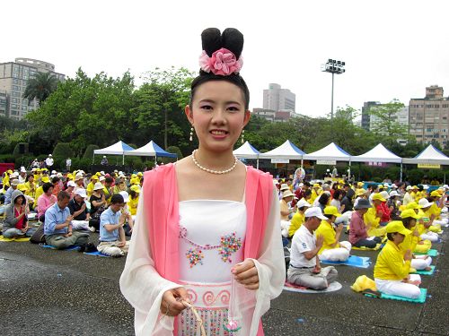
<path id="1" fill-rule="evenodd" d="M 321 268 L 318 252 L 323 244 L 323 237 L 315 237 L 313 234 L 320 226 L 321 220 L 327 218 L 318 207 L 307 209 L 304 216 L 304 224 L 298 228 L 292 239 L 286 279 L 308 289 L 327 289 L 331 282 L 337 280 L 339 273 L 333 266 Z"/>

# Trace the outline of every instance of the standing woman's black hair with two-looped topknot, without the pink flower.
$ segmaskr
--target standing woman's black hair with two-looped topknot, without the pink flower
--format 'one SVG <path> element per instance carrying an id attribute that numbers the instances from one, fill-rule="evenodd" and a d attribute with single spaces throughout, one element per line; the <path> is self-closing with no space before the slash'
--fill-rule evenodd
<path id="1" fill-rule="evenodd" d="M 236 59 L 239 59 L 240 56 L 242 56 L 243 34 L 234 28 L 226 28 L 223 33 L 216 28 L 207 28 L 201 33 L 201 41 L 203 50 L 209 57 L 211 57 L 216 50 L 222 47 L 232 51 Z M 250 90 L 248 90 L 248 86 L 240 73 L 218 75 L 214 73 L 206 73 L 203 70 L 199 70 L 198 77 L 191 83 L 190 108 L 192 106 L 193 97 L 195 96 L 195 90 L 197 90 L 199 85 L 209 81 L 226 81 L 237 85 L 242 90 L 243 99 L 245 100 L 245 109 L 248 110 L 250 108 Z"/>

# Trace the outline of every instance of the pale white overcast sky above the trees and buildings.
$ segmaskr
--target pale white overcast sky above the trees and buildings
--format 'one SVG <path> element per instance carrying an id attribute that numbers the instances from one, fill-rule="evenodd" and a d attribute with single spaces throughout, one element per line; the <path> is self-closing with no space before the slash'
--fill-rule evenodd
<path id="1" fill-rule="evenodd" d="M 270 82 L 296 94 L 296 112 L 330 112 L 328 58 L 346 62 L 335 78 L 335 107 L 364 101 L 408 105 L 438 84 L 449 96 L 449 1 L 100 1 L 0 3 L 0 62 L 28 57 L 73 77 L 104 71 L 138 77 L 154 67 L 198 71 L 200 33 L 242 31 L 242 76 L 251 109 Z"/>

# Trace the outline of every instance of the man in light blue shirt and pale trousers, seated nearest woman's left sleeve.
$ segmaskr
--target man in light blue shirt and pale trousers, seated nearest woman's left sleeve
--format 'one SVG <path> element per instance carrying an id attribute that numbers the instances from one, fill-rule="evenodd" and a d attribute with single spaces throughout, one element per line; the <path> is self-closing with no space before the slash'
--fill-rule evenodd
<path id="1" fill-rule="evenodd" d="M 100 216 L 100 245 L 98 251 L 102 254 L 119 257 L 128 254 L 129 242 L 125 237 L 123 226 L 128 214 L 123 211 L 125 206 L 121 194 L 113 194 L 110 198 L 110 207 Z"/>

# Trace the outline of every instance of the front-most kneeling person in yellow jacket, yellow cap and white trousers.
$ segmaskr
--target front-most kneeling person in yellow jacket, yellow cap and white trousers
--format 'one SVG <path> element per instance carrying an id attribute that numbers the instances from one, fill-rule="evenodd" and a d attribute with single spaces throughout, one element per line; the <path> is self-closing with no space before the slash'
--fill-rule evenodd
<path id="1" fill-rule="evenodd" d="M 401 220 L 393 220 L 385 227 L 388 241 L 377 256 L 374 265 L 374 282 L 377 290 L 384 294 L 399 297 L 418 298 L 421 278 L 418 274 L 409 274 L 412 254 L 405 254 L 399 247 L 411 231 L 404 228 Z"/>

